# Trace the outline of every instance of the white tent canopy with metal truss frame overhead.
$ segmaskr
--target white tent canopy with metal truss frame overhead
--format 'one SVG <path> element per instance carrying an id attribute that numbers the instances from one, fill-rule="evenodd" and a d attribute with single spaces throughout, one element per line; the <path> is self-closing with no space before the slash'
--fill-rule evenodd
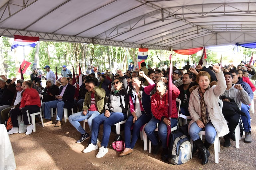
<path id="1" fill-rule="evenodd" d="M 256 0 L 1 0 L 0 35 L 174 50 L 256 40 Z"/>

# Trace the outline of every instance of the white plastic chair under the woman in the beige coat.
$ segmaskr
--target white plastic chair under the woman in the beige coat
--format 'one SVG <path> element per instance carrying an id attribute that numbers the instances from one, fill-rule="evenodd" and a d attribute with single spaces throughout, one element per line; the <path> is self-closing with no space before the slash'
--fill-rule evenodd
<path id="1" fill-rule="evenodd" d="M 218 100 L 218 103 L 220 105 L 220 110 L 222 110 L 222 107 L 223 107 L 223 102 L 222 100 Z M 203 135 L 205 135 L 205 131 L 202 130 L 198 133 L 200 139 L 202 140 L 203 138 Z M 192 145 L 192 148 L 191 148 L 191 158 L 192 158 L 192 151 L 193 151 L 193 141 L 192 139 L 190 140 L 190 143 Z M 218 134 L 216 134 L 215 136 L 215 140 L 214 140 L 214 143 L 213 143 L 213 146 L 214 146 L 214 158 L 215 158 L 215 163 L 219 163 L 219 152 L 220 152 L 220 144 L 219 144 L 219 137 L 218 137 Z"/>

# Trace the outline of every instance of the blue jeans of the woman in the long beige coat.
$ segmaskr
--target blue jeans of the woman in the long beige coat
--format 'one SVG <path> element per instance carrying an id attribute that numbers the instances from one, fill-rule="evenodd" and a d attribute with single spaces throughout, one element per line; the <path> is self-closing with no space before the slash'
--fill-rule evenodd
<path id="1" fill-rule="evenodd" d="M 192 139 L 192 141 L 196 141 L 197 139 L 199 139 L 199 135 L 198 133 L 203 130 L 202 128 L 198 127 L 196 122 L 193 122 L 190 126 L 189 129 L 189 135 Z M 211 122 L 208 122 L 206 124 L 206 126 L 204 127 L 205 130 L 205 140 L 210 143 L 213 144 L 214 140 L 215 140 L 215 136 L 217 134 L 214 126 L 212 125 Z"/>

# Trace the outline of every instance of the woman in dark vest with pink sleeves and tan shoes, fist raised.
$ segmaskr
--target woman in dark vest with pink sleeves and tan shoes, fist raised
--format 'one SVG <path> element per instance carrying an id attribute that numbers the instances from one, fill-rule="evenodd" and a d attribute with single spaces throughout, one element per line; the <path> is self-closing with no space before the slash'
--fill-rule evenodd
<path id="1" fill-rule="evenodd" d="M 125 156 L 133 152 L 135 143 L 140 135 L 140 127 L 148 123 L 152 118 L 150 105 L 150 92 L 154 89 L 155 83 L 144 71 L 139 72 L 139 76 L 144 77 L 149 83 L 144 87 L 139 77 L 132 78 L 133 89 L 130 92 L 130 110 L 131 114 L 124 125 L 125 149 L 119 156 Z M 133 131 L 131 134 L 131 127 Z M 132 138 L 131 138 L 132 136 Z"/>

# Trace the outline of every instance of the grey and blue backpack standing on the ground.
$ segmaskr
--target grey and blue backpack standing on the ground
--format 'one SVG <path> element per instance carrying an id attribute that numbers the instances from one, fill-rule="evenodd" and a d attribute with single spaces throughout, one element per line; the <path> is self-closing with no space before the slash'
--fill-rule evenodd
<path id="1" fill-rule="evenodd" d="M 191 148 L 189 138 L 180 131 L 174 131 L 170 136 L 168 161 L 174 165 L 188 162 Z"/>

